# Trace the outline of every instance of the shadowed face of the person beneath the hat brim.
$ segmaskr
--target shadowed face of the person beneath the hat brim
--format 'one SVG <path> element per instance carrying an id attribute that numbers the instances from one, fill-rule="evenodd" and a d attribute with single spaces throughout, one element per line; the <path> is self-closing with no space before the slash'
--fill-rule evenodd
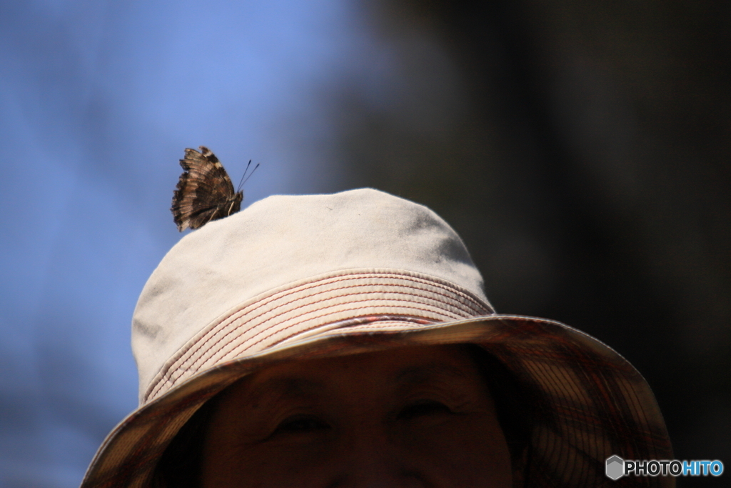
<path id="1" fill-rule="evenodd" d="M 202 486 L 512 487 L 493 400 L 458 346 L 279 364 L 221 397 Z"/>

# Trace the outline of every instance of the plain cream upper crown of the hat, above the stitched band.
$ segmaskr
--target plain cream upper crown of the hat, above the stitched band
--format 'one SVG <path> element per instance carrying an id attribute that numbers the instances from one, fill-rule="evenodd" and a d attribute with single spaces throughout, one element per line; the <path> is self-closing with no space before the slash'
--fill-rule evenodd
<path id="1" fill-rule="evenodd" d="M 184 236 L 148 279 L 132 320 L 140 399 L 221 314 L 268 290 L 349 269 L 436 277 L 489 307 L 463 241 L 425 206 L 375 189 L 271 196 Z"/>

